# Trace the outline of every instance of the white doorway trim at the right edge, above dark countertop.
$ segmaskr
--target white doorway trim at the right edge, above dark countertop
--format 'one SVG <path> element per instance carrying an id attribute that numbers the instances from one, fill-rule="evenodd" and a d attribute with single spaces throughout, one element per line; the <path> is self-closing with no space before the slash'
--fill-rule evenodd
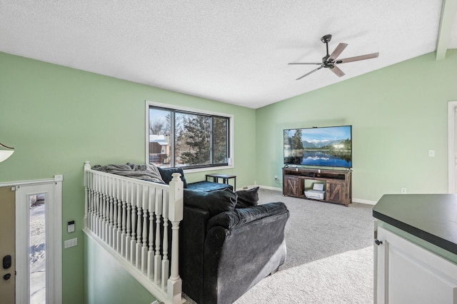
<path id="1" fill-rule="evenodd" d="M 457 193 L 457 101 L 448 102 L 448 193 Z"/>

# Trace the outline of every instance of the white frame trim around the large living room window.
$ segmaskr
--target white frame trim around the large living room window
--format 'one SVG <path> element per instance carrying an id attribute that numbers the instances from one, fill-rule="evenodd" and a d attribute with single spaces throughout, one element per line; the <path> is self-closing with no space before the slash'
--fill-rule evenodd
<path id="1" fill-rule="evenodd" d="M 235 165 L 235 161 L 233 158 L 233 151 L 234 150 L 234 145 L 233 145 L 233 115 L 231 114 L 226 114 L 226 113 L 219 113 L 219 112 L 213 112 L 213 111 L 206 111 L 206 110 L 201 110 L 199 108 L 188 108 L 184 106 L 175 106 L 169 103 L 158 103 L 155 101 L 146 101 L 146 121 L 145 121 L 145 126 L 146 126 L 146 132 L 145 132 L 145 141 L 144 141 L 144 148 L 145 148 L 145 161 L 146 163 L 149 163 L 149 107 L 151 106 L 156 106 L 159 108 L 171 108 L 173 110 L 178 110 L 178 111 L 187 111 L 187 112 L 193 112 L 193 113 L 201 113 L 201 114 L 207 114 L 207 115 L 214 115 L 214 116 L 223 116 L 226 118 L 229 118 L 229 161 L 228 165 L 226 166 L 211 166 L 211 167 L 204 167 L 204 168 L 186 168 L 182 167 L 183 170 L 186 172 L 202 172 L 202 171 L 213 171 L 213 170 L 221 170 L 221 169 L 229 169 L 233 168 Z"/>

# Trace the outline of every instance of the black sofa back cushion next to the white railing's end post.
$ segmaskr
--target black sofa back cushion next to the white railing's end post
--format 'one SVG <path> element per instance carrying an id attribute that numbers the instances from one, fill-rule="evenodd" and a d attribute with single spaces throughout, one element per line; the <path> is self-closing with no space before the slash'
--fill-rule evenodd
<path id="1" fill-rule="evenodd" d="M 229 188 L 211 192 L 184 189 L 184 205 L 209 211 L 210 216 L 215 216 L 235 209 L 236 194 Z"/>

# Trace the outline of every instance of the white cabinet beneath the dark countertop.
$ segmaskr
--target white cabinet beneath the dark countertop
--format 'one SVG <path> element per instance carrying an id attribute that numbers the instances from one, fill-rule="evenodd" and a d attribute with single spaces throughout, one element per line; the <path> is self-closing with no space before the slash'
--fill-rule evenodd
<path id="1" fill-rule="evenodd" d="M 378 227 L 377 304 L 457 304 L 457 265 Z"/>

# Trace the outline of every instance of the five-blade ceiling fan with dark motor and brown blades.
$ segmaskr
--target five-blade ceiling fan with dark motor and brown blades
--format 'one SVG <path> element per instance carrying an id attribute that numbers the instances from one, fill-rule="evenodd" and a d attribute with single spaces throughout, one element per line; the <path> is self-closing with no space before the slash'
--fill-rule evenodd
<path id="1" fill-rule="evenodd" d="M 323 56 L 322 62 L 319 63 L 311 63 L 311 62 L 291 62 L 290 64 L 317 64 L 320 65 L 317 69 L 313 69 L 313 71 L 304 74 L 301 77 L 298 77 L 296 80 L 299 80 L 305 76 L 308 76 L 309 74 L 314 73 L 317 70 L 320 70 L 322 68 L 327 68 L 330 69 L 336 76 L 341 77 L 344 76 L 343 71 L 336 66 L 336 64 L 346 64 L 346 62 L 352 62 L 352 61 L 360 61 L 360 60 L 365 60 L 365 59 L 372 59 L 376 58 L 379 56 L 379 53 L 373 53 L 373 54 L 366 54 L 366 55 L 361 55 L 361 56 L 356 56 L 356 57 L 350 57 L 346 59 L 337 59 L 338 56 L 341 54 L 344 49 L 346 49 L 347 44 L 338 44 L 336 46 L 336 49 L 333 51 L 332 54 L 328 55 L 328 42 L 331 41 L 331 35 L 326 35 L 321 38 L 321 41 L 326 44 L 327 48 L 327 54 L 326 56 Z"/>

